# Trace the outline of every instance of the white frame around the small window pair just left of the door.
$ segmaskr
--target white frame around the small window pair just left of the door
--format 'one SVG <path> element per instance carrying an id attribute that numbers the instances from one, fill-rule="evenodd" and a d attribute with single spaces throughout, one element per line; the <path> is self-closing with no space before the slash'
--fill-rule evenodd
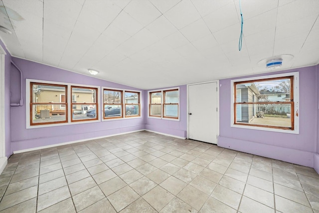
<path id="1" fill-rule="evenodd" d="M 169 90 L 176 90 L 178 91 L 178 118 L 167 118 L 163 115 L 163 107 L 164 107 L 164 91 Z M 160 92 L 161 93 L 161 112 L 160 116 L 150 116 L 150 93 L 152 92 Z M 179 87 L 172 87 L 172 88 L 164 88 L 164 89 L 156 89 L 156 90 L 149 90 L 148 91 L 148 118 L 154 118 L 154 119 L 162 119 L 162 120 L 171 120 L 171 121 L 179 121 L 180 119 L 180 89 Z"/>

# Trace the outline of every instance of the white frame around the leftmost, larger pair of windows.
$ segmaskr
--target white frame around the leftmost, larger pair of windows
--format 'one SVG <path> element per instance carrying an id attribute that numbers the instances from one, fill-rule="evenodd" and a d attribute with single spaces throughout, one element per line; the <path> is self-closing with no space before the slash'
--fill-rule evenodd
<path id="1" fill-rule="evenodd" d="M 91 87 L 97 88 L 97 101 L 98 105 L 101 103 L 101 95 L 100 95 L 100 86 L 93 86 L 93 85 L 85 85 L 85 84 L 73 84 L 73 83 L 65 83 L 65 82 L 57 82 L 57 81 L 43 81 L 43 80 L 36 80 L 36 79 L 26 79 L 25 80 L 25 123 L 26 129 L 35 129 L 35 128 L 45 128 L 45 127 L 55 127 L 55 126 L 65 126 L 65 125 L 76 125 L 76 124 L 86 124 L 86 123 L 96 123 L 101 121 L 101 115 L 98 113 L 97 120 L 88 120 L 88 121 L 77 121 L 71 122 L 72 116 L 72 109 L 71 109 L 71 102 L 72 102 L 72 91 L 71 86 L 79 86 L 79 87 Z M 30 125 L 30 83 L 46 83 L 46 84 L 59 84 L 59 85 L 67 85 L 67 103 L 68 103 L 68 122 L 66 123 L 58 123 L 58 124 L 46 124 L 43 125 Z"/>

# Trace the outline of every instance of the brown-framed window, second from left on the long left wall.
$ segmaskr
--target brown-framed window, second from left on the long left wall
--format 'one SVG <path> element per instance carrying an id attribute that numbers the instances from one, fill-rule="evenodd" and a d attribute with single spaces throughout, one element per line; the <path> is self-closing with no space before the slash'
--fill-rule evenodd
<path id="1" fill-rule="evenodd" d="M 97 120 L 97 88 L 71 86 L 72 117 L 71 121 Z M 76 98 L 76 101 L 75 101 Z"/>

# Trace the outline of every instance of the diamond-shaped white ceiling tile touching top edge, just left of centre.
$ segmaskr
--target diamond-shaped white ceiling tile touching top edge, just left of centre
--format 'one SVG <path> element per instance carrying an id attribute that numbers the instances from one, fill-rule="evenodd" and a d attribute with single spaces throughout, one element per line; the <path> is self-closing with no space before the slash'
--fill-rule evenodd
<path id="1" fill-rule="evenodd" d="M 129 15 L 143 26 L 148 25 L 161 15 L 160 11 L 150 1 L 142 0 L 131 1 L 124 8 L 124 11 L 129 13 Z"/>

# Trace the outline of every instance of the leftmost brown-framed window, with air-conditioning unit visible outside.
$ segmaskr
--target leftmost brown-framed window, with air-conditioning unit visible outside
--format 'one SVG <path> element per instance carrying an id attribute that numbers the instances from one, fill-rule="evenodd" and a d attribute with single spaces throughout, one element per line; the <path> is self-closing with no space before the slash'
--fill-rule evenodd
<path id="1" fill-rule="evenodd" d="M 68 122 L 67 85 L 30 83 L 30 126 Z"/>

